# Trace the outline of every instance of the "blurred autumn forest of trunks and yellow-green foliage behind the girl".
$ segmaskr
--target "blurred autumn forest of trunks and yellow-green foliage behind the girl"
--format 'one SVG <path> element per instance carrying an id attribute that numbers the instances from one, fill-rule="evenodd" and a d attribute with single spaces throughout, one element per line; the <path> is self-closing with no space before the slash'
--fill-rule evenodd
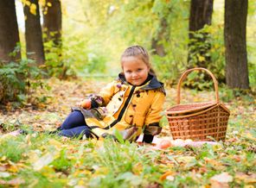
<path id="1" fill-rule="evenodd" d="M 1 0 L 0 102 L 24 100 L 42 78 L 116 77 L 135 44 L 167 85 L 202 66 L 223 87 L 255 91 L 254 0 Z"/>

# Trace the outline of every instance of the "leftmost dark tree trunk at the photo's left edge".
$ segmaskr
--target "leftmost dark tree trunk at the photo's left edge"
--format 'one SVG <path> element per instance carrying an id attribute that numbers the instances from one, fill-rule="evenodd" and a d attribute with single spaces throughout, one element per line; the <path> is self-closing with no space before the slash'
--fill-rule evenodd
<path id="1" fill-rule="evenodd" d="M 10 56 L 20 42 L 15 0 L 0 0 L 0 62 L 21 59 L 20 51 Z"/>

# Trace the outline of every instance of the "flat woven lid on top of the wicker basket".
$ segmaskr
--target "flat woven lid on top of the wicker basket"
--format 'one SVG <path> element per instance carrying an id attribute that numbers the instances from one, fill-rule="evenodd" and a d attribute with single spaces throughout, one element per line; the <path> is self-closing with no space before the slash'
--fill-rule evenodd
<path id="1" fill-rule="evenodd" d="M 188 113 L 188 112 L 193 112 L 193 111 L 198 111 L 198 110 L 204 110 L 208 109 L 217 103 L 214 101 L 211 102 L 202 102 L 202 103 L 182 103 L 182 104 L 176 104 L 174 106 L 171 106 L 168 110 L 166 110 L 167 115 L 172 115 L 172 114 L 183 114 L 183 113 Z M 174 110 L 178 109 L 180 107 L 187 107 L 185 110 Z"/>

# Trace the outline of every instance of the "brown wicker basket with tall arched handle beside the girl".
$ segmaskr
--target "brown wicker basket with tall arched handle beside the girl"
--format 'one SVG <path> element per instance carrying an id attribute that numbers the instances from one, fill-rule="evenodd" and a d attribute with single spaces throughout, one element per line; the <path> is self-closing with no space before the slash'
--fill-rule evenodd
<path id="1" fill-rule="evenodd" d="M 190 72 L 205 71 L 213 78 L 215 99 L 207 103 L 180 104 L 181 84 Z M 177 105 L 166 110 L 173 139 L 193 141 L 225 141 L 229 110 L 220 103 L 218 83 L 214 74 L 205 68 L 193 68 L 182 74 L 177 85 Z"/>

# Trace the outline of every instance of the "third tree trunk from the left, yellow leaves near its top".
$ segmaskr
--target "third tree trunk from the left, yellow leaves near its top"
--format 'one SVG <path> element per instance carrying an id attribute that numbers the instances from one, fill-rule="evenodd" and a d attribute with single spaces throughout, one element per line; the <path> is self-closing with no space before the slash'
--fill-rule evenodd
<path id="1" fill-rule="evenodd" d="M 43 28 L 47 34 L 47 40 L 53 40 L 54 45 L 61 45 L 61 1 L 46 0 L 46 4 L 50 3 L 44 9 Z"/>

